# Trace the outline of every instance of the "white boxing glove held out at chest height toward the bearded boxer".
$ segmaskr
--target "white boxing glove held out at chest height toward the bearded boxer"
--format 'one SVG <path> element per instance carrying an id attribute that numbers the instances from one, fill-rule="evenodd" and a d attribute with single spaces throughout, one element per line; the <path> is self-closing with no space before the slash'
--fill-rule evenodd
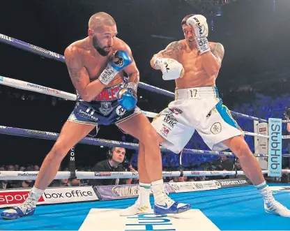
<path id="1" fill-rule="evenodd" d="M 156 58 L 154 66 L 162 71 L 163 80 L 176 80 L 184 75 L 182 64 L 178 63 L 175 59 Z"/>

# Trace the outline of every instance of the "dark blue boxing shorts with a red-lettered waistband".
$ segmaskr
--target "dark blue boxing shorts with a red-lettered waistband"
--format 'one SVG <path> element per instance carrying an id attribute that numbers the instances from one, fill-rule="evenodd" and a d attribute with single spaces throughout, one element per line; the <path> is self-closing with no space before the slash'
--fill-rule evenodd
<path id="1" fill-rule="evenodd" d="M 110 125 L 116 124 L 142 113 L 139 107 L 135 106 L 127 111 L 118 103 L 117 93 L 125 83 L 102 90 L 91 102 L 86 102 L 77 94 L 75 109 L 68 117 L 68 121 L 78 124 Z"/>

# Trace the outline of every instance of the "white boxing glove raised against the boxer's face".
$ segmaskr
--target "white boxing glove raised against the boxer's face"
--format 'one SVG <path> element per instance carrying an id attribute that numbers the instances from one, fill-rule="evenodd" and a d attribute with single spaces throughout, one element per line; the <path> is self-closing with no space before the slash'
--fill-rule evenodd
<path id="1" fill-rule="evenodd" d="M 207 37 L 208 36 L 208 24 L 206 17 L 203 15 L 193 15 L 186 20 L 186 24 L 192 26 L 194 29 L 195 37 Z"/>

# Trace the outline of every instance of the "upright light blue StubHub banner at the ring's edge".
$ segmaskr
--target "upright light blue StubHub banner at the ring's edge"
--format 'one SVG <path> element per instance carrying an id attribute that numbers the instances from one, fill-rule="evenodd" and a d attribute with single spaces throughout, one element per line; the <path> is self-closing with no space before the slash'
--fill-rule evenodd
<path id="1" fill-rule="evenodd" d="M 268 176 L 282 174 L 282 119 L 269 118 Z"/>

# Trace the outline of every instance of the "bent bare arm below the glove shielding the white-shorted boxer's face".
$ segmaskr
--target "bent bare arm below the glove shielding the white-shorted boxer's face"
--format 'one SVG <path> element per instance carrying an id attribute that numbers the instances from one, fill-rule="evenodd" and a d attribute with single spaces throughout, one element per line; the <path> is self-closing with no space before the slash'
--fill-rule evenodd
<path id="1" fill-rule="evenodd" d="M 211 52 L 201 54 L 202 66 L 209 76 L 213 76 L 219 73 L 222 66 L 222 59 L 224 57 L 224 47 L 220 43 L 215 43 Z"/>

